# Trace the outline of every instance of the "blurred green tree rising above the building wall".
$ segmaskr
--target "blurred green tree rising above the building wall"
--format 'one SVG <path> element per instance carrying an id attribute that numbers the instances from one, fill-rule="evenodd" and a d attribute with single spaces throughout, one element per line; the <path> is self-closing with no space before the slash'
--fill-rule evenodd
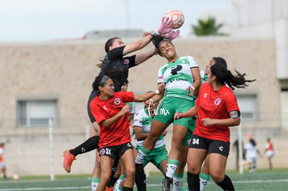
<path id="1" fill-rule="evenodd" d="M 214 17 L 208 17 L 208 19 L 198 19 L 198 25 L 192 25 L 192 30 L 197 36 L 227 35 L 225 33 L 218 33 L 223 25 L 223 23 L 216 24 Z"/>

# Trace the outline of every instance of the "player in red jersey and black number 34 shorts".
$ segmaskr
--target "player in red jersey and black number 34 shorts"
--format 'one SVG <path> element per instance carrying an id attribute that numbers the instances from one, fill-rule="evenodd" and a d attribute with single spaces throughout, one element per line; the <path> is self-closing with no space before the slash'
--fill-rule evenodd
<path id="1" fill-rule="evenodd" d="M 214 182 L 223 190 L 234 190 L 232 181 L 225 175 L 230 151 L 229 127 L 240 124 L 240 110 L 232 90 L 246 88 L 248 82 L 255 80 L 246 80 L 246 74 L 236 70 L 237 75 L 234 76 L 223 58 L 215 59 L 216 63 L 210 67 L 208 80 L 203 83 L 195 106 L 184 113 L 175 113 L 175 119 L 198 115 L 187 157 L 189 190 L 200 190 L 199 174 L 207 155 Z"/>

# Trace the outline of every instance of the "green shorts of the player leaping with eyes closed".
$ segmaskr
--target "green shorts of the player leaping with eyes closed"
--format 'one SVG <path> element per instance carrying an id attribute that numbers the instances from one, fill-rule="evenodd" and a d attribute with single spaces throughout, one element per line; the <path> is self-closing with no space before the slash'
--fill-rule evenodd
<path id="1" fill-rule="evenodd" d="M 193 106 L 195 106 L 195 100 L 165 96 L 154 119 L 163 122 L 164 124 L 169 125 L 173 123 L 190 128 L 192 121 L 191 117 L 174 120 L 174 114 L 176 112 L 184 113 Z"/>

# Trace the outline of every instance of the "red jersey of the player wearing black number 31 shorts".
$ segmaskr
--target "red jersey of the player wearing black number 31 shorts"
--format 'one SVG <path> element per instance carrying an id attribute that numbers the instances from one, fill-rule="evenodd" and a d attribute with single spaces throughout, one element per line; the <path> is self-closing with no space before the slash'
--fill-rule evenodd
<path id="1" fill-rule="evenodd" d="M 111 99 L 104 101 L 95 97 L 90 103 L 90 109 L 100 126 L 99 147 L 108 147 L 130 142 L 128 115 L 123 115 L 115 124 L 105 128 L 100 124 L 105 119 L 110 119 L 120 112 L 126 103 L 134 101 L 133 92 L 115 92 Z"/>

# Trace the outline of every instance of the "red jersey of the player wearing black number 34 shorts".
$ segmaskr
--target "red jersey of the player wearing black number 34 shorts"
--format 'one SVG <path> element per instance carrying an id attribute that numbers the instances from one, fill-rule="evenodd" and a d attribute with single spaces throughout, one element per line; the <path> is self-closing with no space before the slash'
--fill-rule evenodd
<path id="1" fill-rule="evenodd" d="M 237 99 L 232 90 L 223 85 L 220 90 L 214 91 L 209 83 L 203 83 L 195 105 L 198 106 L 198 117 L 193 134 L 211 140 L 230 142 L 229 127 L 205 126 L 202 119 L 227 119 L 230 118 L 230 111 L 239 111 Z"/>

